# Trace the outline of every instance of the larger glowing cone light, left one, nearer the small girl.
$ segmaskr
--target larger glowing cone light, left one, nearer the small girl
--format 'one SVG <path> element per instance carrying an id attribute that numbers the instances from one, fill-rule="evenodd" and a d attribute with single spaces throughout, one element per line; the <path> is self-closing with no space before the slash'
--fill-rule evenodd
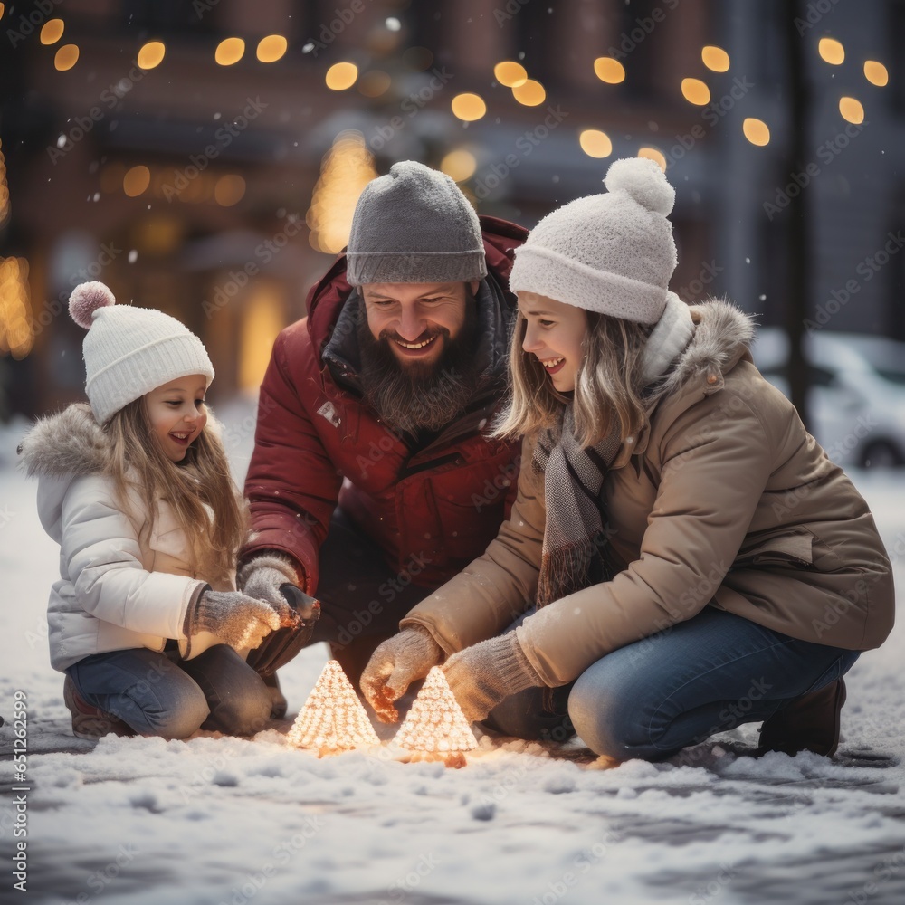
<path id="1" fill-rule="evenodd" d="M 338 661 L 330 660 L 320 673 L 287 740 L 296 748 L 317 748 L 318 757 L 380 744 Z"/>

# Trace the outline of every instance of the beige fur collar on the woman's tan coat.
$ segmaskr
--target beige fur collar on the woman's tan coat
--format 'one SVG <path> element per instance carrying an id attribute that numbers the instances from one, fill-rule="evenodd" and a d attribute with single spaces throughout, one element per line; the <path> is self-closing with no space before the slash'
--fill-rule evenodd
<path id="1" fill-rule="evenodd" d="M 691 342 L 648 399 L 675 395 L 711 374 L 721 376 L 725 367 L 738 359 L 739 347 L 748 348 L 754 339 L 754 319 L 728 300 L 711 299 L 692 305 L 691 318 L 696 324 Z"/>

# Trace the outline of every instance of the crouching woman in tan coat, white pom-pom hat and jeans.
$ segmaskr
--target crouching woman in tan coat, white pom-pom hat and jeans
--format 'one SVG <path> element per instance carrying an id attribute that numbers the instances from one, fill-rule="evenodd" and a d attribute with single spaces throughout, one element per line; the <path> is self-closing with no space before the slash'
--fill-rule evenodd
<path id="1" fill-rule="evenodd" d="M 660 167 L 619 160 L 605 185 L 516 252 L 497 430 L 525 436 L 511 519 L 362 687 L 393 719 L 453 654 L 465 713 L 509 734 L 557 737 L 570 718 L 598 754 L 656 760 L 763 720 L 760 750 L 832 755 L 843 674 L 893 622 L 871 513 L 757 372 L 748 316 L 668 291 Z"/>

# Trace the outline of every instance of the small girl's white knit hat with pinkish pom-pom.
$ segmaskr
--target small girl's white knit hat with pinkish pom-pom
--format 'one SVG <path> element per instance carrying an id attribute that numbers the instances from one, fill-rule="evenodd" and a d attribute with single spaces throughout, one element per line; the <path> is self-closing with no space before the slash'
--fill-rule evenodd
<path id="1" fill-rule="evenodd" d="M 116 304 L 102 282 L 76 286 L 69 311 L 88 330 L 85 392 L 99 424 L 176 377 L 200 374 L 208 385 L 214 379 L 204 343 L 191 330 L 163 311 Z"/>

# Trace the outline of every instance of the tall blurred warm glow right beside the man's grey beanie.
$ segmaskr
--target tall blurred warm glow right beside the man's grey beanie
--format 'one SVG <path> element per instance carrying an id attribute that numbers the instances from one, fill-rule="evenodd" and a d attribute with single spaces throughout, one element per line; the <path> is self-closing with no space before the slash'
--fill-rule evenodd
<path id="1" fill-rule="evenodd" d="M 305 218 L 313 249 L 336 254 L 345 247 L 358 196 L 376 175 L 365 137 L 356 131 L 341 132 L 324 155 Z"/>

